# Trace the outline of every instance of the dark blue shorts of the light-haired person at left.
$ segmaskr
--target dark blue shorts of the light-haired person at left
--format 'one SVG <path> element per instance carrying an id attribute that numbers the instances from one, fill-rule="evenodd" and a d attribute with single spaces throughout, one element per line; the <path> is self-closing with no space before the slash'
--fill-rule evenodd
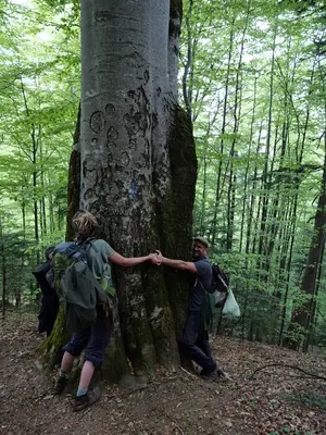
<path id="1" fill-rule="evenodd" d="M 79 357 L 86 347 L 85 361 L 100 365 L 104 359 L 105 348 L 111 339 L 111 327 L 108 319 L 98 320 L 95 325 L 80 333 L 75 333 L 64 346 L 64 350 L 73 357 Z"/>

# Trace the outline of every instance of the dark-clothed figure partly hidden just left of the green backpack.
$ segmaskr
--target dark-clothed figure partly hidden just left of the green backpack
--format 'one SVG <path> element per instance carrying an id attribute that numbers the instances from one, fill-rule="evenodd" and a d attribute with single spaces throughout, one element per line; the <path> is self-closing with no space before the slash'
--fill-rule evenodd
<path id="1" fill-rule="evenodd" d="M 51 264 L 53 250 L 54 246 L 47 248 L 46 261 L 33 272 L 42 293 L 41 308 L 38 314 L 38 332 L 46 332 L 47 336 L 53 330 L 59 310 L 59 299 L 54 289 L 53 269 Z"/>

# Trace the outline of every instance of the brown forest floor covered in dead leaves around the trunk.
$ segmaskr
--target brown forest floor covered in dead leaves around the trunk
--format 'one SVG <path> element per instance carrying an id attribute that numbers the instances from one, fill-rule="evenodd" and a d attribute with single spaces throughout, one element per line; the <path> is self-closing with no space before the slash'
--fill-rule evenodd
<path id="1" fill-rule="evenodd" d="M 35 314 L 0 325 L 0 434 L 326 434 L 321 357 L 216 337 L 213 353 L 233 382 L 161 371 L 143 389 L 102 386 L 97 405 L 74 413 L 72 395 L 52 395 L 36 351 L 42 339 Z"/>

